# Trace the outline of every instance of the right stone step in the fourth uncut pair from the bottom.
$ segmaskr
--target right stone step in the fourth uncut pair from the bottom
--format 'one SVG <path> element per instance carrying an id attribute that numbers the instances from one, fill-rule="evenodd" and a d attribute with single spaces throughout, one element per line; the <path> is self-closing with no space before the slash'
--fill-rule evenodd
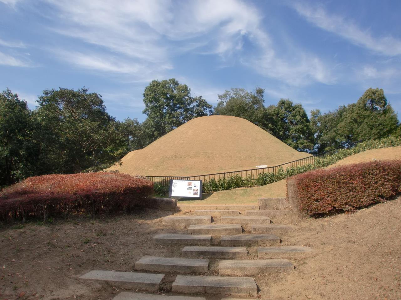
<path id="1" fill-rule="evenodd" d="M 279 246 L 280 238 L 273 234 L 233 234 L 221 236 L 221 246 Z"/>

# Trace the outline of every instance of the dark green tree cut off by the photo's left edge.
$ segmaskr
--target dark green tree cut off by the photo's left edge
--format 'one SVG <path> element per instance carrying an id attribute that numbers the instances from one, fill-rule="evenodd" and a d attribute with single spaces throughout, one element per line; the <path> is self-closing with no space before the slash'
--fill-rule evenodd
<path id="1" fill-rule="evenodd" d="M 0 94 L 0 186 L 30 175 L 30 110 L 9 89 Z"/>

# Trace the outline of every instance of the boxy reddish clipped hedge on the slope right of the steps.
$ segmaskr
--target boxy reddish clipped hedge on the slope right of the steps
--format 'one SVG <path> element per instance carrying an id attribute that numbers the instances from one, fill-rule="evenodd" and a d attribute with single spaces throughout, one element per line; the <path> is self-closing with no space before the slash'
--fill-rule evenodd
<path id="1" fill-rule="evenodd" d="M 401 191 L 401 161 L 372 161 L 294 177 L 300 209 L 311 216 L 354 211 Z"/>

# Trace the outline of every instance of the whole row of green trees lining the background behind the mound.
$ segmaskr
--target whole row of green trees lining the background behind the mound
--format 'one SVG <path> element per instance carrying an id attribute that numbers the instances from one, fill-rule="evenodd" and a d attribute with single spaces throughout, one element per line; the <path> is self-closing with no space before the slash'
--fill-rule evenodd
<path id="1" fill-rule="evenodd" d="M 401 136 L 383 89 L 367 89 L 356 103 L 328 113 L 311 111 L 310 119 L 289 99 L 265 107 L 260 87 L 252 92 L 233 88 L 218 97 L 214 114 L 245 118 L 299 151 Z M 104 169 L 190 119 L 213 113 L 202 96 L 192 97 L 176 79 L 152 81 L 143 101 L 145 121 L 121 122 L 107 113 L 101 95 L 85 87 L 45 90 L 33 111 L 6 89 L 0 94 L 0 186 L 34 175 Z"/>

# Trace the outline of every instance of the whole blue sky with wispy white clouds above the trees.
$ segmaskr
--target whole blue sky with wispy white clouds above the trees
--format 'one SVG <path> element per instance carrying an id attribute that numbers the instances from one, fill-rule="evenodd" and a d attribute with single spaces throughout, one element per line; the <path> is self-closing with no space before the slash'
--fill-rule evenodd
<path id="1" fill-rule="evenodd" d="M 384 89 L 401 116 L 401 1 L 0 0 L 0 89 L 35 107 L 44 89 L 103 95 L 119 120 L 145 119 L 153 79 L 216 105 L 265 89 L 309 113 Z"/>

